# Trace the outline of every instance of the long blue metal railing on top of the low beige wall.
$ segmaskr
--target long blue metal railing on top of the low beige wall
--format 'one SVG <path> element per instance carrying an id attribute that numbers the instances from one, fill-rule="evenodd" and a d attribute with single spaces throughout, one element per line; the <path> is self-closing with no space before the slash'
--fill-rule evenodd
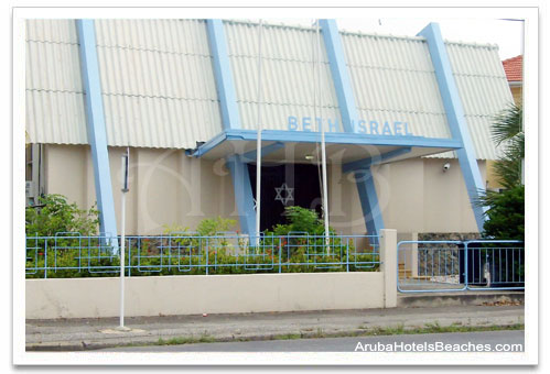
<path id="1" fill-rule="evenodd" d="M 258 238 L 171 233 L 125 238 L 127 276 L 377 271 L 376 235 L 288 235 Z M 114 251 L 120 238 L 57 233 L 26 237 L 26 277 L 91 277 L 120 274 Z M 120 245 L 118 245 L 120 248 Z"/>

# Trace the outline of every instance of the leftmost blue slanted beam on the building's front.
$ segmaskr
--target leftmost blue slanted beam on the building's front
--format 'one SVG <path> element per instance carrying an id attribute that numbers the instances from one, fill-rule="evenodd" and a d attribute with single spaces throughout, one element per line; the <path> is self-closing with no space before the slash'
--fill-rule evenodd
<path id="1" fill-rule="evenodd" d="M 76 20 L 80 51 L 80 70 L 86 100 L 86 123 L 88 143 L 91 148 L 97 206 L 99 209 L 99 231 L 115 237 L 117 218 L 112 199 L 109 153 L 105 129 L 105 112 L 101 98 L 101 80 L 96 50 L 96 29 L 94 20 Z M 118 244 L 114 242 L 115 251 Z"/>

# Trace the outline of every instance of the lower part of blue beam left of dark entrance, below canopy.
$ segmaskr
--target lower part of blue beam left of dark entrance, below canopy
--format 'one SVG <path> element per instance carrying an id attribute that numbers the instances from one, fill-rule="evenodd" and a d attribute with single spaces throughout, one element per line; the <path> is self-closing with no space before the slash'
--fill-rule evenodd
<path id="1" fill-rule="evenodd" d="M 248 165 L 240 155 L 227 157 L 226 166 L 231 173 L 235 202 L 239 213 L 240 230 L 249 235 L 256 232 L 256 208 L 254 204 L 252 186 L 248 174 Z"/>

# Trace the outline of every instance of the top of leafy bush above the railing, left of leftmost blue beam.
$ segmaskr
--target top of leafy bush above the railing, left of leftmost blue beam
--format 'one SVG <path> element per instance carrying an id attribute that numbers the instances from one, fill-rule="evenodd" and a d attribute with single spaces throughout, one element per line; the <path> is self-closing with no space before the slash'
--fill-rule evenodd
<path id="1" fill-rule="evenodd" d="M 28 235 L 54 237 L 57 232 L 79 232 L 83 235 L 97 233 L 99 211 L 88 211 L 68 204 L 63 195 L 45 195 L 39 198 L 37 207 L 25 209 L 25 233 Z"/>

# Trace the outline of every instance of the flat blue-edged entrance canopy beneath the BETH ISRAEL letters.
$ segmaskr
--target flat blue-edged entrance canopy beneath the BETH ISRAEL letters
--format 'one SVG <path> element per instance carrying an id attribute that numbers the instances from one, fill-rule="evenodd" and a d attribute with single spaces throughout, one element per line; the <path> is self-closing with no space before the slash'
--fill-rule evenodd
<path id="1" fill-rule="evenodd" d="M 252 163 L 256 162 L 257 135 L 255 130 L 225 130 L 187 154 L 203 160 L 241 155 L 246 162 Z M 316 161 L 320 143 L 319 132 L 263 130 L 261 146 L 266 151 L 262 151 L 262 162 L 310 163 Z M 377 157 L 380 163 L 390 158 L 393 162 L 462 147 L 461 142 L 453 139 L 341 132 L 326 132 L 325 144 L 328 164 L 347 164 Z M 384 155 L 391 157 L 381 157 Z"/>

